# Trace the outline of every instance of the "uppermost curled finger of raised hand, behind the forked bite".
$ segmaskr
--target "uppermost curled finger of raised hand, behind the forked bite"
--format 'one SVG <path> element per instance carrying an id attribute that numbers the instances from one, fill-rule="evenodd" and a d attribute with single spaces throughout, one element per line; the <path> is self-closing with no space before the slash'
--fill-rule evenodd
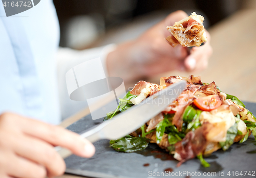
<path id="1" fill-rule="evenodd" d="M 166 30 L 167 26 L 173 26 L 176 21 L 180 21 L 183 18 L 186 18 L 188 15 L 186 12 L 182 10 L 175 11 L 173 13 L 170 13 L 165 19 L 164 19 L 164 37 L 167 37 L 170 35 L 169 31 Z"/>

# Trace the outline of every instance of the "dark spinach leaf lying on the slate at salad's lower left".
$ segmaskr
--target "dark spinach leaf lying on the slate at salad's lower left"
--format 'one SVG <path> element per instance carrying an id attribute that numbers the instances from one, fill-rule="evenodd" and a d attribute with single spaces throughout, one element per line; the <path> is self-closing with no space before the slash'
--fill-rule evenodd
<path id="1" fill-rule="evenodd" d="M 149 139 L 143 137 L 124 137 L 119 140 L 111 140 L 110 146 L 116 151 L 134 152 L 145 149 L 149 142 Z"/>

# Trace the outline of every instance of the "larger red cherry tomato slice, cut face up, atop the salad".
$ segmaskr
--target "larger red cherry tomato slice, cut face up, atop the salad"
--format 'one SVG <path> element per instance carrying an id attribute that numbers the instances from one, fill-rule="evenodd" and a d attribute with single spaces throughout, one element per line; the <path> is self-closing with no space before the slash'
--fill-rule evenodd
<path id="1" fill-rule="evenodd" d="M 194 104 L 201 110 L 210 111 L 220 107 L 222 101 L 219 95 L 209 95 L 194 100 Z"/>

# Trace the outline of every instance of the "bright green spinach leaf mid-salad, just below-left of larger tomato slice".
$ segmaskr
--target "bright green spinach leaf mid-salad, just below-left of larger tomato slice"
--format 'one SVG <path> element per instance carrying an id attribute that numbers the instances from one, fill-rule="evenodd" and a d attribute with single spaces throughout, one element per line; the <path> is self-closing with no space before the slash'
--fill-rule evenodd
<path id="1" fill-rule="evenodd" d="M 202 110 L 195 109 L 191 105 L 186 107 L 183 115 L 183 122 L 187 124 L 187 130 L 195 130 L 196 128 L 201 126 L 201 123 L 199 121 L 201 113 Z"/>

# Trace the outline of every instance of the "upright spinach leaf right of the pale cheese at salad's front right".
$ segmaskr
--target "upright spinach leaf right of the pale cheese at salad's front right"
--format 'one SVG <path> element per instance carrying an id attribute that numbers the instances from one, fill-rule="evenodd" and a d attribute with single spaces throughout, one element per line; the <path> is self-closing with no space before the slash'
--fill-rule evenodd
<path id="1" fill-rule="evenodd" d="M 227 130 L 226 141 L 220 142 L 220 145 L 224 151 L 227 150 L 233 144 L 234 138 L 237 136 L 237 133 L 238 124 L 234 123 L 234 125 Z"/>

